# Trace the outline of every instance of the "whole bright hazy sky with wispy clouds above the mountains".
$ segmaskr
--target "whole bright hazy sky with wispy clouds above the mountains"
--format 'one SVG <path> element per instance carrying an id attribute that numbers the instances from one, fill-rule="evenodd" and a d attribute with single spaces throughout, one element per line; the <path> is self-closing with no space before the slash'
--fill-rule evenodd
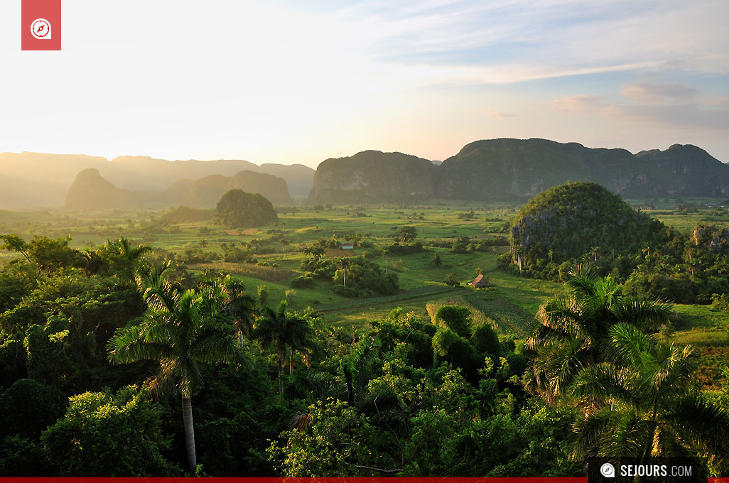
<path id="1" fill-rule="evenodd" d="M 0 1 L 0 152 L 432 160 L 477 139 L 696 144 L 729 162 L 729 2 Z"/>

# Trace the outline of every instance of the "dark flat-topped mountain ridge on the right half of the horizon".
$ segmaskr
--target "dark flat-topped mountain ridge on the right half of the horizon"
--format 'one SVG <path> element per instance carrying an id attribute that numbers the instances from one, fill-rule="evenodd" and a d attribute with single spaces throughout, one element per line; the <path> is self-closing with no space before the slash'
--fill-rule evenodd
<path id="1" fill-rule="evenodd" d="M 389 164 L 386 172 L 383 163 Z M 725 197 L 729 165 L 690 144 L 632 154 L 538 138 L 499 138 L 469 143 L 429 167 L 413 165 L 407 154 L 378 151 L 327 160 L 316 169 L 309 200 L 523 201 L 566 181 L 591 181 L 627 198 Z"/>

